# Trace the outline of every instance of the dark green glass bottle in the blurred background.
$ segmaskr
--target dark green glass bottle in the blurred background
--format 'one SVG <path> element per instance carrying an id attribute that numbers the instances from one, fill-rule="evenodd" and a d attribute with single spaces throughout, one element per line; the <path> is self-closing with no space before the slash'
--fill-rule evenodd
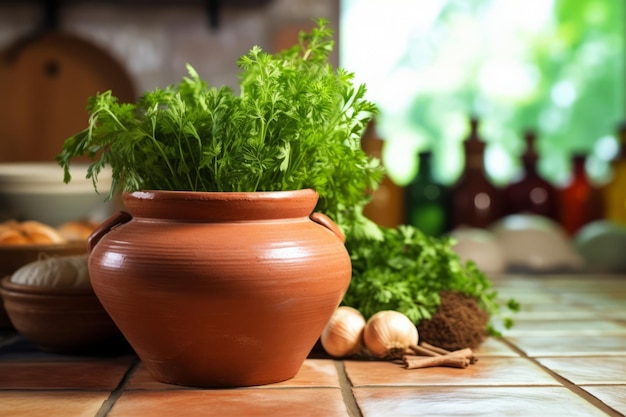
<path id="1" fill-rule="evenodd" d="M 450 190 L 432 173 L 432 152 L 418 153 L 418 171 L 406 186 L 406 223 L 429 236 L 450 230 Z"/>

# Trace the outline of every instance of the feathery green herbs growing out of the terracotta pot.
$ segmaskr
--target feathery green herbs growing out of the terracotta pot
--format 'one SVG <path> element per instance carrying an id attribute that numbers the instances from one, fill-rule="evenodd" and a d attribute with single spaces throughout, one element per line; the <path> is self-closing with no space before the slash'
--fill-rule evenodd
<path id="1" fill-rule="evenodd" d="M 313 188 L 317 210 L 359 218 L 382 177 L 360 145 L 376 107 L 352 73 L 328 63 L 333 46 L 332 30 L 318 19 L 289 49 L 269 54 L 255 46 L 242 56 L 238 94 L 209 86 L 187 65 L 178 84 L 136 103 L 120 103 L 110 91 L 90 98 L 88 127 L 57 156 L 65 181 L 71 160 L 88 156 L 96 189 L 98 174 L 111 167 L 111 195 Z"/>

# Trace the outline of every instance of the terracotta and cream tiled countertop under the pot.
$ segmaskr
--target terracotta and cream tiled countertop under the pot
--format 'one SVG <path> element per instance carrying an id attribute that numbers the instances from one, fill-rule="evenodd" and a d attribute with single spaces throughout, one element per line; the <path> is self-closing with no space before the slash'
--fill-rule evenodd
<path id="1" fill-rule="evenodd" d="M 494 278 L 522 304 L 466 369 L 406 370 L 313 354 L 289 381 L 195 389 L 155 382 L 130 351 L 39 352 L 0 335 L 0 416 L 623 416 L 626 277 Z"/>

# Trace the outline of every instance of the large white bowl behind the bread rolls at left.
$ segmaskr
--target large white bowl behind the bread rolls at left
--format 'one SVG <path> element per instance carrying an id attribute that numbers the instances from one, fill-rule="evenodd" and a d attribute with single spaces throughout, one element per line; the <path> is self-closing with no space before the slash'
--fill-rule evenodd
<path id="1" fill-rule="evenodd" d="M 98 192 L 86 179 L 86 164 L 75 164 L 72 180 L 63 182 L 63 169 L 53 162 L 0 164 L 0 221 L 37 220 L 56 227 L 81 219 L 102 220 L 113 204 L 105 202 L 111 188 L 110 171 L 98 176 Z"/>

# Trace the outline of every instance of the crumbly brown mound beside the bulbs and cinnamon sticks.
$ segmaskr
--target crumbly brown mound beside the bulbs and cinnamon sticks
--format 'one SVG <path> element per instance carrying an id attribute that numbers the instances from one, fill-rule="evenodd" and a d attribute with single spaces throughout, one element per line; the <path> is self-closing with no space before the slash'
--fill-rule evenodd
<path id="1" fill-rule="evenodd" d="M 417 326 L 420 340 L 447 350 L 476 349 L 487 337 L 489 315 L 475 298 L 442 292 L 441 305 L 432 318 Z"/>

